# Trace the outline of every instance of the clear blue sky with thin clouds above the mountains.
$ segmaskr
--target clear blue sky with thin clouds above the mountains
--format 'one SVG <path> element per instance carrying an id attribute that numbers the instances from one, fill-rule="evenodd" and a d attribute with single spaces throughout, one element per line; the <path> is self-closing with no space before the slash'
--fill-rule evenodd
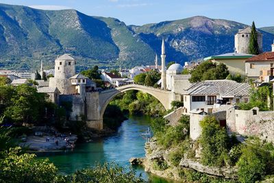
<path id="1" fill-rule="evenodd" d="M 113 17 L 144 25 L 207 16 L 256 27 L 274 26 L 274 0 L 0 0 L 43 10 L 75 9 L 90 16 Z"/>

